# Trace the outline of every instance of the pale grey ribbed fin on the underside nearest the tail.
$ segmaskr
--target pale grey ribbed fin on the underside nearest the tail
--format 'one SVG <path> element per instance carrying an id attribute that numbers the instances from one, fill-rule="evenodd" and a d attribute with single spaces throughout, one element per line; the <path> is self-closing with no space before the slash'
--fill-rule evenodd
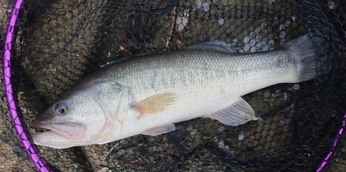
<path id="1" fill-rule="evenodd" d="M 212 120 L 218 120 L 229 126 L 237 126 L 250 120 L 258 120 L 258 118 L 255 117 L 253 108 L 248 102 L 242 99 L 242 97 L 239 97 L 235 104 L 205 117 L 210 117 Z"/>

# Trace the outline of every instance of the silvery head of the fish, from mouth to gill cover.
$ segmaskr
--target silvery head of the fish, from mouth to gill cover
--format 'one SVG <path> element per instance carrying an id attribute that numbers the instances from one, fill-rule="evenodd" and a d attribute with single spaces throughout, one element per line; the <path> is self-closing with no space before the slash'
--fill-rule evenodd
<path id="1" fill-rule="evenodd" d="M 131 96 L 114 82 L 93 84 L 74 89 L 37 116 L 33 126 L 49 131 L 32 134 L 35 144 L 64 149 L 99 144 L 120 133 Z"/>

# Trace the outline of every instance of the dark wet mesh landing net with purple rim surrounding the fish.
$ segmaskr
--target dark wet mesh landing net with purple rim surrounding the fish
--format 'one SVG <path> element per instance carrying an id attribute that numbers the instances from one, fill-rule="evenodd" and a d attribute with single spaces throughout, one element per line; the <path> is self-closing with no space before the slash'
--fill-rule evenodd
<path id="1" fill-rule="evenodd" d="M 346 1 L 0 1 L 0 171 L 343 171 Z M 226 41 L 275 50 L 309 34 L 318 77 L 243 98 L 262 120 L 197 118 L 158 136 L 53 149 L 35 146 L 35 117 L 111 61 Z M 3 70 L 2 70 L 3 69 Z"/>

